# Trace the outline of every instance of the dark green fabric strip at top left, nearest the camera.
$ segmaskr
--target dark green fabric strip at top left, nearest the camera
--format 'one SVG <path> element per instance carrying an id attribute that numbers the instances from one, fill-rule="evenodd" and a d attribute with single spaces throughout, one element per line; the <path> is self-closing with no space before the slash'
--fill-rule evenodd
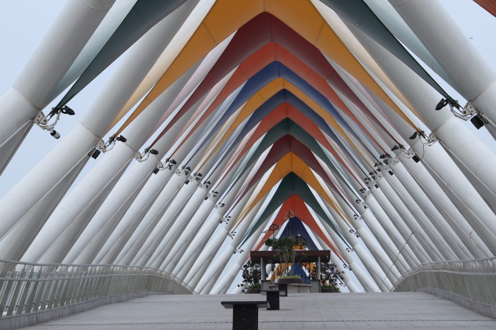
<path id="1" fill-rule="evenodd" d="M 79 79 L 62 97 L 56 108 L 67 104 L 77 93 L 86 87 L 95 77 L 121 56 L 155 24 L 176 10 L 187 0 L 151 1 L 137 0 L 124 21 L 119 25 L 109 41 L 96 55 Z"/>

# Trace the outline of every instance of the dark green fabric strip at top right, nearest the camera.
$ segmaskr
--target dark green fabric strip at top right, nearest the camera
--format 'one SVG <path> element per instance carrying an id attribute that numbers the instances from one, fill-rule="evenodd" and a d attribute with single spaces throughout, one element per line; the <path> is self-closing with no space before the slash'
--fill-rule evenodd
<path id="1" fill-rule="evenodd" d="M 413 58 L 408 50 L 393 36 L 372 9 L 363 0 L 320 0 L 329 8 L 346 18 L 350 23 L 358 27 L 382 47 L 389 50 L 403 63 L 408 65 L 415 73 L 431 85 L 439 94 L 451 103 L 454 99 L 442 89 L 433 77 Z"/>

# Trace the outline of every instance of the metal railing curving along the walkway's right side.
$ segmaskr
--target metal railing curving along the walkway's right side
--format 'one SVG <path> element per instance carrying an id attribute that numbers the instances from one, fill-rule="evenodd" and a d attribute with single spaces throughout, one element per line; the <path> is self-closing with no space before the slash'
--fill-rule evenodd
<path id="1" fill-rule="evenodd" d="M 495 305 L 496 257 L 422 264 L 403 274 L 392 291 L 406 292 L 421 287 Z"/>

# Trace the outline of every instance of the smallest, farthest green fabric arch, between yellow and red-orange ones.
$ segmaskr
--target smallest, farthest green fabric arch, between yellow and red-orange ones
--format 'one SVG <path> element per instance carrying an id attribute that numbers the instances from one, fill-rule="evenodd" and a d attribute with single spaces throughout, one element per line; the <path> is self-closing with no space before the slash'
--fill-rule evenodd
<path id="1" fill-rule="evenodd" d="M 281 180 L 281 184 L 279 187 L 277 187 L 276 192 L 272 196 L 272 199 L 268 203 L 267 207 L 265 210 L 262 212 L 260 218 L 258 218 L 258 221 L 255 223 L 253 228 L 251 228 L 251 231 L 248 233 L 248 235 L 245 237 L 243 240 L 243 243 L 240 244 L 242 246 L 247 239 L 254 234 L 254 232 L 263 224 L 263 222 L 272 214 L 274 211 L 282 205 L 291 195 L 297 195 L 300 197 L 305 203 L 307 203 L 314 211 L 317 213 L 324 221 L 332 228 L 334 233 L 338 235 L 343 242 L 348 246 L 348 243 L 344 239 L 344 237 L 339 233 L 339 231 L 334 227 L 334 224 L 332 221 L 327 217 L 325 214 L 324 210 L 320 207 L 320 204 L 318 201 L 315 199 L 313 196 L 310 188 L 308 187 L 307 183 L 302 180 L 298 175 L 295 173 L 291 172 L 287 176 L 285 176 Z"/>

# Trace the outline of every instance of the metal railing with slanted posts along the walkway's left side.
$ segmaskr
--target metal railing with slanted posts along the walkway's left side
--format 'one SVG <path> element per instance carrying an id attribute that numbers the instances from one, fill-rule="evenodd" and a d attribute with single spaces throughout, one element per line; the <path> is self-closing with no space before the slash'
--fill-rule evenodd
<path id="1" fill-rule="evenodd" d="M 196 293 L 173 274 L 150 267 L 0 259 L 0 318 L 143 290 Z"/>

